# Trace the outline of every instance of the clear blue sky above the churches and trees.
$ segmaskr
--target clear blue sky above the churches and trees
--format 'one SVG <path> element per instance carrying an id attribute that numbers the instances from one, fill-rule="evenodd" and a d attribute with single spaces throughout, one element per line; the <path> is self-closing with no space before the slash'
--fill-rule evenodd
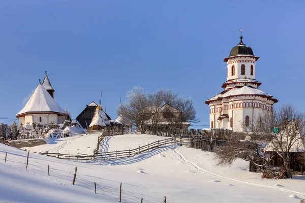
<path id="1" fill-rule="evenodd" d="M 99 101 L 112 119 L 140 86 L 204 101 L 222 91 L 223 59 L 243 42 L 260 59 L 260 89 L 304 111 L 303 1 L 2 1 L 0 117 L 14 118 L 48 72 L 57 103 L 76 116 Z M 12 120 L 0 119 L 12 123 Z"/>

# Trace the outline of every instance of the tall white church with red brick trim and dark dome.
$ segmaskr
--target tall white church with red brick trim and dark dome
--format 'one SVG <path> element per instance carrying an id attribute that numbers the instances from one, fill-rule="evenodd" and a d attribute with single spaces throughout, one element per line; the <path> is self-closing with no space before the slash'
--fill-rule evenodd
<path id="1" fill-rule="evenodd" d="M 259 89 L 261 82 L 256 80 L 256 61 L 250 47 L 240 42 L 232 48 L 227 63 L 227 81 L 221 86 L 224 91 L 209 98 L 210 128 L 225 128 L 243 131 L 243 124 L 250 125 L 258 115 L 273 111 L 278 100 Z"/>

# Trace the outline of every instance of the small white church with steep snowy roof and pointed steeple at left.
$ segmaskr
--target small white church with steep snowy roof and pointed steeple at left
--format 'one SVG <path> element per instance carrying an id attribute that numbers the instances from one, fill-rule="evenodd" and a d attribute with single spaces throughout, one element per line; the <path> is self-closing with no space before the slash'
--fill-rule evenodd
<path id="1" fill-rule="evenodd" d="M 63 123 L 69 118 L 65 112 L 54 100 L 54 89 L 45 72 L 44 80 L 39 83 L 32 96 L 27 101 L 23 109 L 17 113 L 19 124 L 32 125 L 34 122 L 42 125 L 49 123 Z"/>

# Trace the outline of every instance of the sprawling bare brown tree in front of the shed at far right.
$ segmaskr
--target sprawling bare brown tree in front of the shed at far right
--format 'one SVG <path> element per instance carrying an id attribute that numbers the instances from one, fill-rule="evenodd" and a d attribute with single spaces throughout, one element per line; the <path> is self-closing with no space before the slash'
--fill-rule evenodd
<path id="1" fill-rule="evenodd" d="M 275 127 L 279 128 L 279 133 L 275 132 Z M 305 115 L 290 104 L 273 113 L 264 112 L 253 122 L 244 122 L 244 132 L 222 147 L 217 153 L 219 164 L 230 165 L 236 158 L 242 158 L 256 166 L 268 166 L 271 159 L 278 155 L 283 159 L 288 177 L 292 178 L 291 155 L 302 152 L 304 130 Z"/>

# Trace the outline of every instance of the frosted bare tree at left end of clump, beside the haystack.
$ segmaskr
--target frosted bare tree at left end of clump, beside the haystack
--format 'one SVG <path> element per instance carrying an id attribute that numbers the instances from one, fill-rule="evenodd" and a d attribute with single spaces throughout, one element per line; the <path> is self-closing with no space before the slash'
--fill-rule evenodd
<path id="1" fill-rule="evenodd" d="M 127 93 L 127 101 L 120 105 L 116 113 L 121 115 L 123 123 L 142 128 L 145 121 L 151 118 L 148 95 L 140 87 L 134 87 Z"/>

